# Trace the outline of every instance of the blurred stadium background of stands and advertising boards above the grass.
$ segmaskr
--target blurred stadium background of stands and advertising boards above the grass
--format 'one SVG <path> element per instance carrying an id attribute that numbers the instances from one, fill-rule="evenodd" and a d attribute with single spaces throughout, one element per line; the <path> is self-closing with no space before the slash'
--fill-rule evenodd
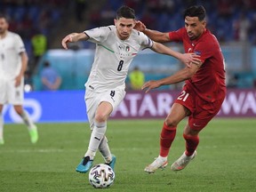
<path id="1" fill-rule="evenodd" d="M 131 6 L 137 19 L 148 28 L 169 31 L 183 27 L 182 11 L 192 4 L 203 4 L 207 27 L 220 41 L 226 60 L 228 96 L 219 116 L 255 116 L 256 114 L 256 1 L 255 0 L 3 0 L 0 12 L 9 15 L 10 30 L 22 37 L 28 51 L 25 108 L 36 122 L 86 121 L 84 82 L 94 56 L 94 44 L 72 44 L 64 51 L 60 41 L 70 32 L 113 24 L 116 9 Z M 33 37 L 43 35 L 46 48 L 36 55 Z M 166 44 L 183 52 L 180 44 Z M 49 60 L 62 77 L 58 92 L 42 92 L 40 71 Z M 179 60 L 143 51 L 133 60 L 131 69 L 139 66 L 146 80 L 169 76 L 182 68 Z M 158 118 L 168 113 L 180 86 L 164 86 L 156 92 L 128 92 L 114 118 Z M 166 108 L 167 106 L 167 108 Z M 65 116 L 63 111 L 70 111 Z M 84 114 L 84 115 L 83 115 Z M 4 108 L 7 123 L 19 122 L 11 106 Z"/>

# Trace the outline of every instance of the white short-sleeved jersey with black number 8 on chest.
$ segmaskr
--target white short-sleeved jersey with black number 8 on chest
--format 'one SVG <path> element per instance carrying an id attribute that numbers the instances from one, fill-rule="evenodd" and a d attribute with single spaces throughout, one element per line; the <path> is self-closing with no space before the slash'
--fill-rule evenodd
<path id="1" fill-rule="evenodd" d="M 116 26 L 85 30 L 89 40 L 96 44 L 94 61 L 86 88 L 104 92 L 114 88 L 125 88 L 125 78 L 132 59 L 140 50 L 153 45 L 151 39 L 132 29 L 131 36 L 121 40 L 116 35 Z"/>

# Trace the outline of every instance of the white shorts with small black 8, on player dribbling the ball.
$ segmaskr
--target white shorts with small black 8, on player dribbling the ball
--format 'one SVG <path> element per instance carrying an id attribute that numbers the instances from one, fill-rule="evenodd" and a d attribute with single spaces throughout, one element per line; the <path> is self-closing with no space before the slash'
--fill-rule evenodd
<path id="1" fill-rule="evenodd" d="M 94 116 L 96 109 L 98 108 L 100 103 L 102 101 L 107 101 L 112 105 L 113 110 L 115 110 L 121 103 L 121 101 L 124 100 L 125 93 L 126 92 L 123 89 L 107 90 L 106 92 L 101 93 L 93 92 L 90 89 L 86 89 L 84 100 L 91 129 L 94 125 Z"/>

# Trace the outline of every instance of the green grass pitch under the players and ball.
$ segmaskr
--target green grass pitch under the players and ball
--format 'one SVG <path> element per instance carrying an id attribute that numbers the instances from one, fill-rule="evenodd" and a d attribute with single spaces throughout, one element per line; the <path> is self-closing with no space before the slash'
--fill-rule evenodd
<path id="1" fill-rule="evenodd" d="M 37 124 L 40 138 L 29 142 L 24 124 L 4 126 L 0 146 L 0 191 L 256 191 L 256 119 L 215 118 L 200 134 L 198 156 L 181 172 L 170 165 L 184 151 L 183 126 L 172 143 L 164 171 L 144 172 L 158 156 L 164 119 L 109 120 L 108 142 L 116 155 L 111 188 L 92 188 L 88 173 L 75 171 L 88 146 L 88 124 Z M 98 152 L 94 164 L 102 163 Z"/>

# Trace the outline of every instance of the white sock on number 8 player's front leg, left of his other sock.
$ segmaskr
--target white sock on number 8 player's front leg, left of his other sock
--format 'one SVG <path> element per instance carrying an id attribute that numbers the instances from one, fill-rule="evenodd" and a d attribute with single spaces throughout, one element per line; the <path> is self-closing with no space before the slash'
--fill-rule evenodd
<path id="1" fill-rule="evenodd" d="M 92 160 L 96 155 L 96 151 L 100 146 L 101 140 L 104 138 L 105 132 L 107 130 L 107 123 L 94 123 L 94 127 L 91 133 L 91 138 L 89 142 L 89 147 L 84 156 L 90 156 Z"/>

